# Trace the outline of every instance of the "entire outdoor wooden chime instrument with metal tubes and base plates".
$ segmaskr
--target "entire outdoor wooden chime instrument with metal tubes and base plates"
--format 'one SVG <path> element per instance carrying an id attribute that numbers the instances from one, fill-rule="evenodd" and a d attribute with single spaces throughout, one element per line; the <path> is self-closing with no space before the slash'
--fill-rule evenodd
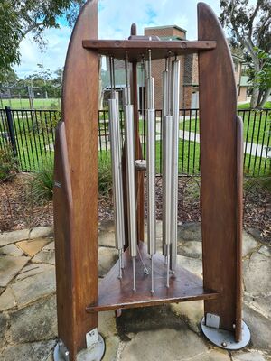
<path id="1" fill-rule="evenodd" d="M 98 40 L 98 1 L 81 10 L 66 59 L 62 121 L 55 148 L 54 219 L 58 328 L 55 360 L 100 360 L 98 312 L 204 301 L 203 333 L 237 349 L 249 341 L 241 319 L 242 122 L 227 42 L 208 5 L 198 5 L 199 40 L 136 35 Z M 177 264 L 180 60 L 198 52 L 201 118 L 203 283 Z M 108 100 L 116 248 L 119 259 L 98 284 L 98 57 L 109 60 Z M 115 59 L 126 85 L 116 91 Z M 164 59 L 163 254 L 156 251 L 155 109 L 152 61 Z M 145 82 L 146 160 L 139 141 L 137 63 Z M 222 69 L 222 70 L 221 70 Z M 121 147 L 120 96 L 125 120 Z M 223 109 L 223 110 L 222 110 Z M 226 110 L 225 110 L 226 109 Z M 144 110 L 143 110 L 144 111 Z M 147 246 L 144 244 L 144 186 Z M 79 352 L 80 351 L 80 352 Z"/>

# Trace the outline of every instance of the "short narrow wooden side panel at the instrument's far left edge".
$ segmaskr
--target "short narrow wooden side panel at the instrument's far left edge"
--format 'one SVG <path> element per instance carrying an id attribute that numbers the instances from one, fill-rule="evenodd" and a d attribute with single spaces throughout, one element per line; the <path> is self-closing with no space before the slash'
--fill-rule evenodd
<path id="1" fill-rule="evenodd" d="M 53 217 L 56 258 L 59 337 L 75 356 L 74 301 L 72 297 L 72 194 L 65 125 L 56 129 L 54 158 Z"/>

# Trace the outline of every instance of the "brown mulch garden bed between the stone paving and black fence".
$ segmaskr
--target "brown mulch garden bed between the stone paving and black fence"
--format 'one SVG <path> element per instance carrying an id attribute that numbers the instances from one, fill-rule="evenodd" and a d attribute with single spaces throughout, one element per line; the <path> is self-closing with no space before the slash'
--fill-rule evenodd
<path id="1" fill-rule="evenodd" d="M 1 232 L 53 225 L 52 202 L 33 202 L 29 186 L 31 177 L 29 174 L 20 174 L 13 182 L 0 183 Z M 179 222 L 200 222 L 200 179 L 180 178 L 178 198 Z M 156 179 L 156 199 L 156 217 L 162 219 L 162 179 L 159 177 Z M 98 218 L 114 219 L 111 196 L 99 198 Z M 271 192 L 257 178 L 245 182 L 244 227 L 257 229 L 264 242 L 271 242 Z"/>

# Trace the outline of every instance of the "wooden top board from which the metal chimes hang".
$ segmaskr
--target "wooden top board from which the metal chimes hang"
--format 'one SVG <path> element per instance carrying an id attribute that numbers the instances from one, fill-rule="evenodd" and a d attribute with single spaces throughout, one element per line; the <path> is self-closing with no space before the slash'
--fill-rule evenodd
<path id="1" fill-rule="evenodd" d="M 140 61 L 143 56 L 148 59 L 148 50 L 152 50 L 152 59 L 164 59 L 169 56 L 210 51 L 216 48 L 217 43 L 207 42 L 186 42 L 186 41 L 142 41 L 142 40 L 83 40 L 83 47 L 97 50 L 101 55 L 112 56 L 116 59 L 125 60 L 128 51 L 129 61 Z"/>

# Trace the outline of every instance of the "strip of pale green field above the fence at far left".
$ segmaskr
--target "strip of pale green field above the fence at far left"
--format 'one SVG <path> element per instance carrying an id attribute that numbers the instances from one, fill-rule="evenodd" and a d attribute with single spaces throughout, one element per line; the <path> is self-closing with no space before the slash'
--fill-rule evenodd
<path id="1" fill-rule="evenodd" d="M 28 99 L 7 99 L 0 100 L 0 107 L 10 106 L 12 109 L 30 109 Z M 33 99 L 34 109 L 60 109 L 61 99 Z"/>

